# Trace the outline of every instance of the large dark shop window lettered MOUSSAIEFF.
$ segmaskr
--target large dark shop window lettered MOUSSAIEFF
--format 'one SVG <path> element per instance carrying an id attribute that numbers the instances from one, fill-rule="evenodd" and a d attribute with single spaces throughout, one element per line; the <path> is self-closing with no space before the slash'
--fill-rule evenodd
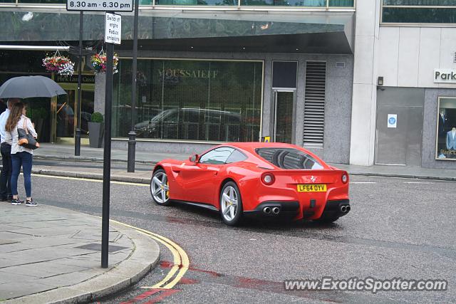
<path id="1" fill-rule="evenodd" d="M 115 74 L 113 135 L 128 137 L 131 59 Z M 259 139 L 263 63 L 138 60 L 138 138 L 246 142 Z"/>

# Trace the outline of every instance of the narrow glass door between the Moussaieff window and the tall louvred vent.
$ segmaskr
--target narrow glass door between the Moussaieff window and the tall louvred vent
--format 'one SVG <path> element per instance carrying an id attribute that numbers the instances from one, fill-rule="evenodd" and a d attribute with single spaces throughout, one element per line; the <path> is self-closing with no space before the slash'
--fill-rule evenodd
<path id="1" fill-rule="evenodd" d="M 274 90 L 274 142 L 294 142 L 294 90 Z"/>

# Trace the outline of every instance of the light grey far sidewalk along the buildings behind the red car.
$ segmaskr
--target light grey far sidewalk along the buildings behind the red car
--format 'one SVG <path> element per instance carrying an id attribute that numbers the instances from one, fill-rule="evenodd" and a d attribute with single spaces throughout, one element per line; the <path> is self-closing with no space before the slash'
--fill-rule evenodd
<path id="1" fill-rule="evenodd" d="M 81 147 L 81 156 L 74 156 L 72 145 L 53 145 L 42 144 L 40 149 L 35 150 L 33 157 L 44 159 L 67 159 L 67 160 L 86 160 L 103 161 L 103 149 Z M 113 162 L 126 162 L 128 157 L 127 150 L 112 150 L 111 159 Z M 152 176 L 152 165 L 165 158 L 187 159 L 187 154 L 159 153 L 159 152 L 136 152 L 135 160 L 138 163 L 150 164 L 150 172 L 137 170 L 135 173 L 128 173 L 126 170 L 111 169 L 111 179 L 120 182 L 137 182 L 143 184 L 150 183 Z M 352 164 L 331 164 L 340 169 L 346 170 L 352 175 L 367 175 L 381 177 L 406 177 L 414 179 L 440 179 L 456 181 L 456 169 L 427 169 L 405 166 L 356 166 Z M 92 179 L 102 179 L 103 169 L 100 168 L 77 168 L 72 167 L 62 169 L 53 166 L 33 166 L 33 173 L 60 175 L 68 177 L 83 177 Z"/>

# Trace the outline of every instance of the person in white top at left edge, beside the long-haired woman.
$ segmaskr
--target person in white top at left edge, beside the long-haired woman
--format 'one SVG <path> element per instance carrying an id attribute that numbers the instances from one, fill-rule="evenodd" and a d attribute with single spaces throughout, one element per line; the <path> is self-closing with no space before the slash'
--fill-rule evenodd
<path id="1" fill-rule="evenodd" d="M 14 103 L 18 103 L 19 99 L 10 98 L 7 102 L 8 108 L 0 115 L 0 152 L 1 163 L 3 167 L 0 173 L 0 201 L 11 201 L 11 142 L 6 142 L 5 126 L 8 120 L 9 112 Z"/>

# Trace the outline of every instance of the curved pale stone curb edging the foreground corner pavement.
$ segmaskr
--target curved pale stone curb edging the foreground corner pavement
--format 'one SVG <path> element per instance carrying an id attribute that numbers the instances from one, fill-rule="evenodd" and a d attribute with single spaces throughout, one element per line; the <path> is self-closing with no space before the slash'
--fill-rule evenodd
<path id="1" fill-rule="evenodd" d="M 160 247 L 153 239 L 135 229 L 112 222 L 110 226 L 122 231 L 135 244 L 135 250 L 128 259 L 105 273 L 76 285 L 26 295 L 4 303 L 88 303 L 117 293 L 140 281 L 157 265 Z"/>

